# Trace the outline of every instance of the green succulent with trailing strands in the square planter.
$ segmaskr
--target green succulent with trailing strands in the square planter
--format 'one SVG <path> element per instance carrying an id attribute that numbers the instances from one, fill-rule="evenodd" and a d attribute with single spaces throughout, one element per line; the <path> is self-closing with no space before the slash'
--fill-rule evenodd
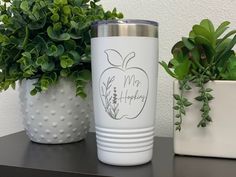
<path id="1" fill-rule="evenodd" d="M 199 88 L 195 99 L 202 103 L 201 120 L 198 127 L 206 127 L 211 121 L 210 105 L 212 89 L 206 87 L 211 80 L 236 80 L 236 30 L 226 33 L 230 22 L 225 21 L 215 28 L 212 22 L 204 19 L 192 27 L 188 37 L 183 37 L 172 48 L 173 58 L 167 64 L 160 64 L 167 73 L 179 81 L 180 94 L 174 94 L 176 105 L 176 130 L 181 130 L 186 108 L 192 103 L 184 97 L 191 86 Z M 226 34 L 225 34 L 226 33 Z"/>

